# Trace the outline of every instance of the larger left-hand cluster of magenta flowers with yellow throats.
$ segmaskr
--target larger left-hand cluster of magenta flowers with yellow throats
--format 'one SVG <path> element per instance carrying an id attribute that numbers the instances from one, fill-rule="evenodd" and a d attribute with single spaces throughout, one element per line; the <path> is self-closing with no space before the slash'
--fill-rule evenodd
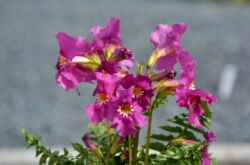
<path id="1" fill-rule="evenodd" d="M 86 108 L 90 121 L 106 120 L 120 136 L 133 135 L 136 127 L 146 124 L 143 112 L 153 96 L 152 81 L 146 75 L 130 73 L 135 61 L 122 44 L 118 19 L 109 19 L 106 27 L 93 27 L 91 33 L 91 42 L 84 37 L 57 34 L 60 56 L 56 80 L 65 90 L 81 82 L 96 82 L 96 101 Z"/>

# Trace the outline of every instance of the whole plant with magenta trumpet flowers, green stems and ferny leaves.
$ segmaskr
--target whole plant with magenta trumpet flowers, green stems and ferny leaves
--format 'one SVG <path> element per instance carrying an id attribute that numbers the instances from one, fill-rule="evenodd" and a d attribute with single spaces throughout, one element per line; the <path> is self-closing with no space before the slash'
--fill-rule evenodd
<path id="1" fill-rule="evenodd" d="M 46 149 L 40 138 L 23 129 L 29 146 L 36 147 L 39 163 L 211 164 L 208 147 L 216 136 L 210 131 L 209 104 L 216 98 L 195 86 L 196 61 L 180 42 L 186 29 L 183 23 L 159 24 L 150 36 L 154 50 L 147 63 L 136 65 L 132 51 L 123 45 L 119 19 L 93 27 L 91 42 L 58 33 L 59 86 L 68 91 L 80 83 L 96 84 L 95 101 L 86 107 L 91 131 L 82 137 L 86 147 L 72 143 L 78 153 L 72 155 L 67 149 Z M 130 70 L 134 65 L 135 74 Z M 153 113 L 170 96 L 187 111 L 160 126 L 164 133 L 152 134 Z M 139 146 L 142 127 L 147 127 L 146 141 Z"/>

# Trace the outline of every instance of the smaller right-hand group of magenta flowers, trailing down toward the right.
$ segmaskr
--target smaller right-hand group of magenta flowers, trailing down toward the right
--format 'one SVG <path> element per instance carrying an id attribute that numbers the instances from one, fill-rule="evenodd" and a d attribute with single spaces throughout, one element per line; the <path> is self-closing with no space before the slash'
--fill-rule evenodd
<path id="1" fill-rule="evenodd" d="M 201 89 L 195 87 L 195 69 L 196 61 L 184 50 L 180 44 L 180 39 L 186 31 L 186 25 L 179 23 L 172 26 L 160 24 L 156 30 L 151 33 L 151 41 L 155 50 L 152 54 L 156 59 L 156 69 L 171 72 L 174 66 L 179 63 L 180 79 L 166 81 L 166 87 L 176 87 L 176 102 L 180 107 L 189 110 L 188 121 L 199 129 L 202 125 L 199 118 L 204 114 L 202 104 L 209 104 L 216 101 L 216 98 Z"/>

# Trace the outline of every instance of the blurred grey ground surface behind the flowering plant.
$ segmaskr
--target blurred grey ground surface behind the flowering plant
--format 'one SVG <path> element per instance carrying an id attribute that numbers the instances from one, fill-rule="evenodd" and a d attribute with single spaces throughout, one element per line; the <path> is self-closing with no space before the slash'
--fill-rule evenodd
<path id="1" fill-rule="evenodd" d="M 244 157 L 244 153 L 250 154 L 248 2 L 0 0 L 0 164 L 18 164 L 13 160 L 26 151 L 21 128 L 42 136 L 47 146 L 80 142 L 89 122 L 84 108 L 93 101 L 94 86 L 80 85 L 81 96 L 58 87 L 54 78 L 59 53 L 55 35 L 64 31 L 91 39 L 89 29 L 106 25 L 112 16 L 121 19 L 124 43 L 138 61 L 145 61 L 151 53 L 149 35 L 157 24 L 188 25 L 182 43 L 198 61 L 196 84 L 218 97 L 212 106 L 218 159 L 224 164 L 250 164 Z M 175 100 L 170 99 L 155 113 L 153 131 L 181 111 L 184 109 L 177 110 Z M 30 159 L 34 160 L 33 154 Z M 19 157 L 20 164 L 25 156 Z"/>

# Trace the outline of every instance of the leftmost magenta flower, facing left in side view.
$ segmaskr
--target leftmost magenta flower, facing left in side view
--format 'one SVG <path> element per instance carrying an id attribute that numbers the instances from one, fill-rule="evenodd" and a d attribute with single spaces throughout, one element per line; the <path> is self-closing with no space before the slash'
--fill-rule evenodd
<path id="1" fill-rule="evenodd" d="M 56 64 L 56 81 L 65 90 L 74 88 L 80 82 L 92 82 L 94 74 L 82 63 L 90 60 L 84 57 L 90 45 L 83 37 L 73 38 L 60 32 L 56 36 L 60 46 L 60 56 Z"/>

